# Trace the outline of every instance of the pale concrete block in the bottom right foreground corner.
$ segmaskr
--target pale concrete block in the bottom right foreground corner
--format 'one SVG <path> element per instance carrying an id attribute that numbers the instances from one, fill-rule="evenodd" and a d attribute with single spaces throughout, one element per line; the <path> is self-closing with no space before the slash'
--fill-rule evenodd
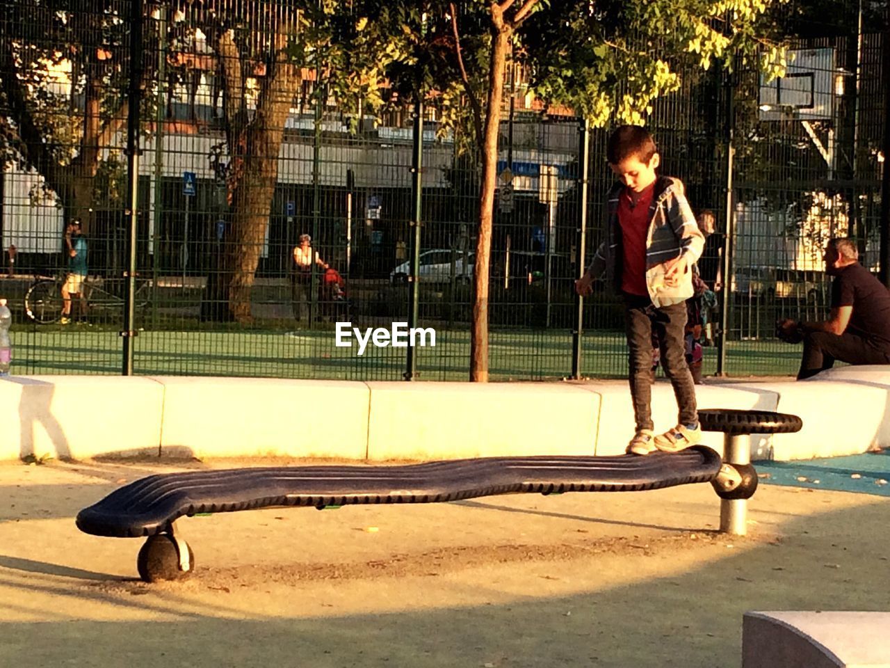
<path id="1" fill-rule="evenodd" d="M 742 668 L 887 668 L 890 613 L 749 612 Z"/>

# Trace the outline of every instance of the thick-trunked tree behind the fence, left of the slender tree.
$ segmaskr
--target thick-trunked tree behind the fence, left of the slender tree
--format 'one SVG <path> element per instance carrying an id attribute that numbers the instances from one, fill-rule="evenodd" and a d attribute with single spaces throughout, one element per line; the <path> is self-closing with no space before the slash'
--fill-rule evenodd
<path id="1" fill-rule="evenodd" d="M 278 181 L 279 151 L 304 70 L 314 69 L 316 100 L 332 95 L 349 110 L 361 97 L 374 109 L 382 102 L 383 67 L 391 58 L 385 37 L 357 18 L 349 3 L 182 3 L 193 30 L 202 30 L 214 52 L 223 92 L 225 137 L 211 158 L 226 177 L 231 232 L 219 271 L 209 276 L 202 316 L 250 322 L 250 293 Z"/>

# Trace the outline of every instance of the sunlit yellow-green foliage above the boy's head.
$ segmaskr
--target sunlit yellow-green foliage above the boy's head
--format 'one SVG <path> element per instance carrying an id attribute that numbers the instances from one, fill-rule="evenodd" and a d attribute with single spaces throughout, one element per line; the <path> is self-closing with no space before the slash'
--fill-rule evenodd
<path id="1" fill-rule="evenodd" d="M 771 76 L 785 68 L 785 47 L 761 37 L 764 12 L 784 0 L 566 2 L 538 12 L 522 34 L 520 56 L 533 89 L 570 106 L 594 126 L 611 118 L 643 124 L 652 102 L 676 91 L 679 72 L 732 68 L 763 53 Z"/>

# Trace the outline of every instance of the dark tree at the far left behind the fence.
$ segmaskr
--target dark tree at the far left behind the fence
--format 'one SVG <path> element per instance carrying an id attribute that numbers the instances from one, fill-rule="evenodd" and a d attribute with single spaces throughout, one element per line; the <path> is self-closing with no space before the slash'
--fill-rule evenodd
<path id="1" fill-rule="evenodd" d="M 66 219 L 89 232 L 102 153 L 126 123 L 129 4 L 10 0 L 4 9 L 0 159 L 34 169 Z"/>

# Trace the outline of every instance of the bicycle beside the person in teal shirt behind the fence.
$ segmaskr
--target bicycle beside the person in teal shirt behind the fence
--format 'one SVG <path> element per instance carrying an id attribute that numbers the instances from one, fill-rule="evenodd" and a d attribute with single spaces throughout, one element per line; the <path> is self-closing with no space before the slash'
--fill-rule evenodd
<path id="1" fill-rule="evenodd" d="M 107 279 L 88 276 L 84 281 L 84 297 L 87 313 L 117 311 L 123 314 L 126 304 L 125 278 Z M 61 277 L 39 279 L 25 293 L 25 313 L 32 321 L 48 325 L 61 320 L 64 300 L 61 287 L 65 279 Z M 145 308 L 150 300 L 151 281 L 136 279 L 135 305 Z"/>

